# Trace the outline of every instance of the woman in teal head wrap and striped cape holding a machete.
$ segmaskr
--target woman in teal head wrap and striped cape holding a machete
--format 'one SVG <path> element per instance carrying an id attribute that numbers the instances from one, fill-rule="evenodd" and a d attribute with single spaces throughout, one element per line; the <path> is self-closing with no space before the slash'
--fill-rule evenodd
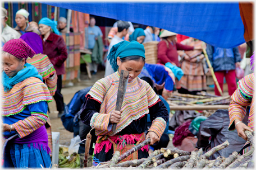
<path id="1" fill-rule="evenodd" d="M 108 59 L 115 73 L 94 84 L 80 114 L 81 121 L 95 128 L 98 136 L 93 166 L 110 160 L 116 150 L 122 154 L 147 138 L 153 145 L 161 138 L 168 121 L 164 103 L 147 82 L 138 78 L 145 64 L 144 46 L 136 41 L 122 41 L 113 45 Z M 115 106 L 121 70 L 129 71 L 129 80 L 120 112 L 115 111 Z M 146 136 L 147 114 L 153 122 Z M 115 133 L 113 123 L 117 123 Z M 148 148 L 144 146 L 123 161 L 147 158 Z"/>

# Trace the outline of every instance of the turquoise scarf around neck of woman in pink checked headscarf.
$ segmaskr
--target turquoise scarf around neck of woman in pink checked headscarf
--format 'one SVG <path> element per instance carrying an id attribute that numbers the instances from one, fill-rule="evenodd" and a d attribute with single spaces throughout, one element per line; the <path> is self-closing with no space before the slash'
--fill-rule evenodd
<path id="1" fill-rule="evenodd" d="M 18 72 L 12 78 L 8 77 L 5 72 L 2 73 L 2 84 L 4 87 L 4 92 L 7 92 L 8 90 L 12 89 L 15 84 L 30 77 L 39 78 L 43 82 L 42 76 L 38 74 L 38 70 L 34 67 L 34 65 L 26 63 L 24 67 L 24 69 L 20 70 L 20 72 Z"/>

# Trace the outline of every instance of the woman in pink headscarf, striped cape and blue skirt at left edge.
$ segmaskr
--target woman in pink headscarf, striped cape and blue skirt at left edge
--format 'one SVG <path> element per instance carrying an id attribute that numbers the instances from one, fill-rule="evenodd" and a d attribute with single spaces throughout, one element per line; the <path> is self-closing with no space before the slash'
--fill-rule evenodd
<path id="1" fill-rule="evenodd" d="M 26 63 L 35 51 L 22 39 L 3 45 L 2 56 L 2 166 L 49 168 L 47 102 L 52 101 L 36 68 Z"/>

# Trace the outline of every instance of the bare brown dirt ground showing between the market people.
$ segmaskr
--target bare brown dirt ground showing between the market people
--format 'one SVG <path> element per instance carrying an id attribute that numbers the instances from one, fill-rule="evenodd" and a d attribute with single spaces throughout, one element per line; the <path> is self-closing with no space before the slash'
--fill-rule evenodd
<path id="1" fill-rule="evenodd" d="M 64 98 L 64 102 L 67 104 L 70 102 L 72 97 L 75 95 L 77 91 L 80 89 L 84 89 L 89 86 L 93 86 L 93 84 L 98 81 L 98 79 L 104 77 L 104 72 L 98 72 L 96 75 L 92 75 L 92 79 L 88 79 L 85 75 L 81 74 L 81 81 L 79 83 L 74 84 L 72 87 L 65 87 L 62 88 L 61 93 Z M 223 91 L 225 92 L 225 95 L 227 95 L 227 86 L 223 87 Z M 208 93 L 214 94 L 213 88 L 207 89 Z M 49 109 L 51 113 L 49 114 L 49 117 L 51 119 L 52 124 L 52 131 L 58 131 L 60 132 L 60 144 L 61 145 L 70 145 L 70 140 L 74 138 L 73 133 L 70 133 L 67 131 L 64 126 L 62 125 L 62 121 L 60 118 L 57 117 L 58 111 L 56 110 L 56 103 L 53 99 L 53 102 L 49 103 Z M 173 148 L 172 141 L 170 141 L 168 148 Z"/>

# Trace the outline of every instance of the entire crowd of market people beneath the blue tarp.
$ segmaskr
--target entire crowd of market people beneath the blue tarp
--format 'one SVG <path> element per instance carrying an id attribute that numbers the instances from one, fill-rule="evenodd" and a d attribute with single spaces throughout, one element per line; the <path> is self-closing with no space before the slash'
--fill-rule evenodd
<path id="1" fill-rule="evenodd" d="M 246 44 L 223 49 L 157 27 L 134 28 L 131 22 L 117 21 L 107 35 L 109 46 L 103 58 L 104 37 L 95 18 L 90 17 L 90 74 L 98 74 L 99 66 L 104 65 L 104 78 L 76 92 L 65 105 L 61 89 L 67 47 L 60 34 L 72 29 L 67 30 L 65 17 L 58 22 L 42 18 L 36 23 L 29 22 L 29 15 L 24 9 L 17 11 L 17 26 L 12 28 L 6 23 L 7 10 L 2 8 L 3 167 L 51 167 L 48 103 L 52 98 L 63 126 L 74 136 L 84 140 L 93 128 L 91 166 L 110 160 L 118 149 L 123 152 L 150 138 L 149 145 L 124 160 L 147 158 L 149 149 L 167 147 L 172 131 L 173 145 L 189 152 L 199 148 L 207 152 L 227 139 L 231 147 L 226 148 L 224 157 L 234 150 L 244 154 L 251 149 L 244 130 L 254 130 L 254 74 L 250 69 L 254 56 Z M 147 63 L 147 45 L 156 46 L 155 64 Z M 232 98 L 229 110 L 217 110 L 209 117 L 197 111 L 176 111 L 170 119 L 167 99 L 173 91 L 190 95 L 206 92 L 207 75 L 212 72 L 205 55 L 221 91 L 227 83 Z M 251 62 L 248 55 L 252 55 Z M 121 70 L 129 71 L 129 80 L 121 111 L 115 111 Z M 221 96 L 216 84 L 214 92 Z M 115 132 L 113 124 L 117 124 Z M 78 151 L 82 167 L 84 143 Z M 221 153 L 210 159 L 218 155 Z"/>

